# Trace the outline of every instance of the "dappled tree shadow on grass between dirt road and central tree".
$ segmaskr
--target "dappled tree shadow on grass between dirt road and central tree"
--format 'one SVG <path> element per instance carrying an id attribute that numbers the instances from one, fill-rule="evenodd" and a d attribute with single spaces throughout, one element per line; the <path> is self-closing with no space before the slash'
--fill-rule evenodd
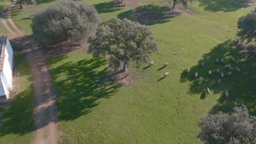
<path id="1" fill-rule="evenodd" d="M 60 121 L 76 119 L 91 112 L 101 98 L 109 98 L 121 84 L 113 81 L 97 82 L 108 75 L 106 59 L 85 59 L 67 62 L 51 69 L 57 88 L 57 109 Z M 54 64 L 54 62 L 49 62 Z"/>

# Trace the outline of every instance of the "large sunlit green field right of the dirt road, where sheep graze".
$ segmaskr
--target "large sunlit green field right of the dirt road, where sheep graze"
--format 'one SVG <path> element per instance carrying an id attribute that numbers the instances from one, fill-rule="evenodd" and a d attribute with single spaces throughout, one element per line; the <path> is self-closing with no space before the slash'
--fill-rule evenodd
<path id="1" fill-rule="evenodd" d="M 101 0 L 84 3 L 95 4 L 101 21 L 127 17 L 150 25 L 159 52 L 152 55 L 155 64 L 151 68 L 129 65 L 135 81 L 132 86 L 96 82 L 108 73 L 106 59 L 96 61 L 87 53 L 49 59 L 57 89 L 58 128 L 62 131 L 59 143 L 201 143 L 196 138 L 200 131 L 197 122 L 205 113 L 230 112 L 234 105 L 246 105 L 256 115 L 256 59 L 238 53 L 233 41 L 238 18 L 253 7 L 202 1 L 189 5 L 195 11 L 192 15 L 170 16 L 160 0 L 139 1 L 130 7 Z M 13 19 L 31 34 L 31 16 L 49 4 L 27 5 L 18 13 L 13 11 Z M 145 21 L 132 17 L 143 11 L 162 18 Z M 231 63 L 231 57 L 236 61 Z M 216 58 L 224 58 L 225 63 L 215 64 Z M 204 68 L 200 67 L 202 61 Z M 169 65 L 160 69 L 165 62 Z M 228 63 L 232 75 L 216 85 L 219 76 L 214 70 L 219 68 L 226 74 Z M 235 67 L 241 68 L 241 73 L 236 73 Z M 191 74 L 183 72 L 187 68 Z M 213 71 L 211 76 L 207 76 L 208 70 Z M 193 79 L 195 71 L 203 77 L 201 84 Z M 161 80 L 165 72 L 170 76 Z M 206 87 L 211 89 L 209 97 L 203 94 Z M 228 99 L 223 96 L 225 89 L 230 93 Z"/>

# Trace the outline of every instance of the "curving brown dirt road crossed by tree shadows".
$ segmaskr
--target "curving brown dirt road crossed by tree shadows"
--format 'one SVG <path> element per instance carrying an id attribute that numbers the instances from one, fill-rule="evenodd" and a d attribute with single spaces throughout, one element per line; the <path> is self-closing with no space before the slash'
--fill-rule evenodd
<path id="1" fill-rule="evenodd" d="M 15 25 L 11 20 L 11 8 L 14 4 L 8 4 L 0 16 L 0 22 L 8 31 L 8 38 L 18 44 L 24 52 L 31 66 L 34 88 L 34 119 L 35 130 L 32 143 L 57 143 L 57 107 L 50 77 L 49 67 L 42 50 L 39 49 L 33 39 Z"/>

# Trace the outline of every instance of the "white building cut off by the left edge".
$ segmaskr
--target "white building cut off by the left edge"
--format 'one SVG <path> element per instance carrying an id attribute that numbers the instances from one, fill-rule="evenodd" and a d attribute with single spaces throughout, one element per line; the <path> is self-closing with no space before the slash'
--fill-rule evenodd
<path id="1" fill-rule="evenodd" d="M 13 48 L 6 35 L 0 37 L 0 48 L 0 103 L 4 103 L 13 88 Z"/>

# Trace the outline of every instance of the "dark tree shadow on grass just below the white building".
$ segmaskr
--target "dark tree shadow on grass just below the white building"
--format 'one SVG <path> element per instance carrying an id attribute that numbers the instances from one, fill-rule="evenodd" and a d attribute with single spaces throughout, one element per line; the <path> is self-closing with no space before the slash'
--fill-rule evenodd
<path id="1" fill-rule="evenodd" d="M 17 98 L 9 105 L 0 109 L 0 136 L 10 133 L 24 135 L 33 131 L 33 86 L 19 93 Z"/>

